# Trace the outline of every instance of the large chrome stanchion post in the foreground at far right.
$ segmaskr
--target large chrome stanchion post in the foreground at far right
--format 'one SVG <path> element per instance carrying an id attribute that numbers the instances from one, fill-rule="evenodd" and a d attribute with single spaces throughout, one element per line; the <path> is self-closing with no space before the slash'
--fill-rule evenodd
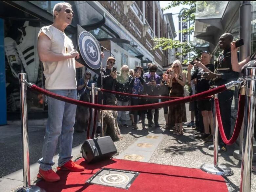
<path id="1" fill-rule="evenodd" d="M 256 68 L 245 68 L 245 126 L 241 168 L 241 192 L 251 191 L 251 168 L 253 154 L 253 132 L 256 107 Z"/>

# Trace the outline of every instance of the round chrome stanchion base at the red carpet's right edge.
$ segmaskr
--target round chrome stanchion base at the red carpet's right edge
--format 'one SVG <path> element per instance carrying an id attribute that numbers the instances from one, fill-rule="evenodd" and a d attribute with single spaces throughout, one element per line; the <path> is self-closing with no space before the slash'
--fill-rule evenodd
<path id="1" fill-rule="evenodd" d="M 207 164 L 203 164 L 200 167 L 200 169 L 207 173 L 216 174 L 216 175 L 230 176 L 234 174 L 231 168 L 225 165 L 218 165 L 217 167 L 214 167 L 213 164 L 207 163 Z"/>

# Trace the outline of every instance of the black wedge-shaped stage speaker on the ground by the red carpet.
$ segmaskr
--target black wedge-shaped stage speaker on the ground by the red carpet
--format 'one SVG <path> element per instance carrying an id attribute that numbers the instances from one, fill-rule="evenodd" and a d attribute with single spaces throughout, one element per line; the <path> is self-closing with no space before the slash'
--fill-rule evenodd
<path id="1" fill-rule="evenodd" d="M 116 153 L 117 148 L 110 136 L 87 139 L 82 145 L 82 155 L 88 163 L 110 159 Z"/>

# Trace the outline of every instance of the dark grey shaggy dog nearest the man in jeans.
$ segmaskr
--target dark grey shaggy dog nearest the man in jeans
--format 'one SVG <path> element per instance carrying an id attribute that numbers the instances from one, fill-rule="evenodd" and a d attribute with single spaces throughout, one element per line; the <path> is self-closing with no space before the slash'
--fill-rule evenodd
<path id="1" fill-rule="evenodd" d="M 80 96 L 80 101 L 90 102 L 90 95 L 85 91 Z M 81 133 L 87 131 L 90 111 L 88 107 L 77 105 L 75 112 L 75 132 Z"/>

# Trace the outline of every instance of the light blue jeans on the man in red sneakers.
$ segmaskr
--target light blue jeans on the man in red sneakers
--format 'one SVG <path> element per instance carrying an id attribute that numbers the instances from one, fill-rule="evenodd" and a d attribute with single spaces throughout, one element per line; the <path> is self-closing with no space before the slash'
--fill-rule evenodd
<path id="1" fill-rule="evenodd" d="M 76 99 L 76 89 L 49 90 L 58 95 Z M 48 121 L 45 129 L 42 158 L 38 160 L 42 170 L 50 170 L 54 165 L 53 155 L 59 139 L 58 166 L 64 165 L 72 159 L 72 140 L 75 124 L 76 105 L 47 97 L 48 99 Z"/>

